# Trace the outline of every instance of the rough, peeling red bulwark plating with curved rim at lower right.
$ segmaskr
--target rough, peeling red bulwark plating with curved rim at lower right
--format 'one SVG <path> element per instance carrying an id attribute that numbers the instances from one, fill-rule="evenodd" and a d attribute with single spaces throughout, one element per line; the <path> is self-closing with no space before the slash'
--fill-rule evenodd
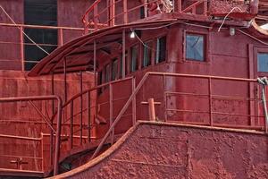
<path id="1" fill-rule="evenodd" d="M 96 161 L 56 178 L 267 178 L 267 136 L 139 124 Z"/>

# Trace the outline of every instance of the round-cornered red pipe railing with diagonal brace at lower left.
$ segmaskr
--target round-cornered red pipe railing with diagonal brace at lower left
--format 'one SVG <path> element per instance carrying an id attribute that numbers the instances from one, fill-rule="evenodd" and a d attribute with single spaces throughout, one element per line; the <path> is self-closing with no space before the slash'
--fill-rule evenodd
<path id="1" fill-rule="evenodd" d="M 51 118 L 48 116 L 44 115 L 42 111 L 38 109 L 38 107 L 35 105 L 34 101 L 57 101 L 57 111 L 56 111 L 56 128 L 54 129 L 54 116 L 53 115 Z M 49 127 L 51 131 L 51 138 L 54 138 L 55 136 L 55 142 L 54 142 L 54 149 L 53 149 L 53 141 L 50 143 L 50 150 L 51 150 L 51 155 L 50 155 L 50 161 L 53 163 L 54 166 L 54 175 L 58 174 L 58 164 L 59 164 L 59 157 L 60 157 L 60 145 L 61 145 L 61 123 L 62 123 L 62 99 L 58 96 L 33 96 L 33 97 L 15 97 L 15 98 L 0 98 L 0 104 L 3 103 L 18 103 L 18 102 L 28 102 L 29 105 L 37 111 L 38 115 L 40 118 L 46 123 L 46 125 Z M 9 138 L 9 139 L 14 139 L 14 140 L 26 140 L 26 141 L 37 141 L 37 139 L 34 138 L 29 138 L 29 137 L 23 137 L 23 136 L 13 136 L 13 135 L 5 135 L 1 134 L 1 138 Z M 41 144 L 41 152 L 43 155 L 43 143 Z M 54 150 L 54 159 L 53 159 L 53 150 Z M 11 157 L 13 155 L 10 155 Z M 17 156 L 13 156 L 14 158 Z M 21 156 L 22 158 L 22 156 Z M 27 157 L 23 157 L 27 158 Z M 44 158 L 42 157 L 42 168 L 44 168 Z M 48 165 L 48 164 L 47 164 Z M 49 165 L 48 165 L 49 166 Z"/>

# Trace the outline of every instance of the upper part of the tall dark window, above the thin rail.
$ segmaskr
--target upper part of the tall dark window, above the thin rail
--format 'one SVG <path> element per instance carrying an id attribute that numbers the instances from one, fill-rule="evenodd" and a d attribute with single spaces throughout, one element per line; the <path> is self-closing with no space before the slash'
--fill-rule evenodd
<path id="1" fill-rule="evenodd" d="M 24 0 L 24 23 L 57 26 L 57 0 Z"/>

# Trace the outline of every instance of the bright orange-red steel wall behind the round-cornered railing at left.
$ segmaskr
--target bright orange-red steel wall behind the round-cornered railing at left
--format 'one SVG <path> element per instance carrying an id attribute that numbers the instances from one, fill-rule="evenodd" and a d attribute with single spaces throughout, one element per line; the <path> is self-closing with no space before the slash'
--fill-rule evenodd
<path id="1" fill-rule="evenodd" d="M 84 73 L 83 89 L 89 89 L 93 86 L 93 76 L 91 73 Z M 80 91 L 80 75 L 72 73 L 67 75 L 67 91 L 68 98 Z M 29 78 L 24 72 L 0 71 L 0 98 L 35 96 L 35 95 L 51 95 L 51 77 Z M 64 97 L 64 81 L 63 75 L 55 75 L 54 77 L 54 94 Z M 48 101 L 34 102 L 38 109 L 44 114 L 51 116 L 52 103 Z M 74 111 L 79 111 L 80 104 L 75 103 Z M 56 107 L 56 102 L 55 102 Z M 63 120 L 66 116 L 63 115 Z M 79 122 L 74 122 L 78 125 Z M 76 129 L 76 128 L 74 128 Z M 69 129 L 69 125 L 63 125 L 63 133 Z M 41 132 L 44 133 L 43 140 L 27 141 L 3 138 L 0 136 L 0 167 L 16 168 L 15 164 L 10 164 L 11 160 L 15 160 L 20 156 L 23 161 L 29 164 L 22 165 L 25 170 L 41 171 L 41 163 L 44 158 L 44 168 L 47 170 L 49 165 L 49 133 L 50 130 L 44 120 L 38 115 L 33 107 L 27 102 L 4 103 L 0 104 L 0 134 L 14 135 L 21 137 L 40 138 Z M 41 148 L 43 141 L 43 150 Z M 76 142 L 76 141 L 75 141 Z M 63 142 L 64 146 L 64 142 Z M 44 151 L 44 153 L 43 153 Z M 43 153 L 43 155 L 42 155 Z M 31 157 L 31 158 L 25 158 Z"/>

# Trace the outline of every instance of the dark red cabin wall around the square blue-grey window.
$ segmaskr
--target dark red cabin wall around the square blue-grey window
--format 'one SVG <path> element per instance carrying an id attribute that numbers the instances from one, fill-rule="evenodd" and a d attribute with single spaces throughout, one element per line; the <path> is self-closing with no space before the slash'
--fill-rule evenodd
<path id="1" fill-rule="evenodd" d="M 200 23 L 202 24 L 202 23 Z M 204 24 L 205 25 L 205 24 Z M 142 30 L 141 40 L 146 42 L 152 38 L 167 35 L 167 55 L 166 62 L 162 64 L 153 64 L 147 68 L 141 69 L 141 60 L 143 46 L 138 39 L 130 39 L 127 34 L 126 48 L 129 50 L 128 60 L 126 63 L 127 72 L 130 71 L 130 47 L 138 43 L 140 48 L 139 54 L 139 70 L 138 72 L 128 73 L 128 76 L 136 78 L 136 84 L 143 77 L 146 72 L 179 72 L 188 74 L 203 74 L 214 76 L 226 76 L 237 78 L 256 78 L 257 76 L 267 75 L 267 73 L 257 72 L 257 49 L 262 49 L 268 52 L 268 48 L 264 47 L 253 38 L 240 33 L 236 30 L 234 36 L 230 36 L 229 30 L 222 29 L 217 32 L 218 28 L 208 30 L 205 28 L 198 28 L 189 25 L 177 24 L 172 25 L 169 29 L 160 30 Z M 206 58 L 205 62 L 195 62 L 186 60 L 184 57 L 185 51 L 185 33 L 197 33 L 205 35 L 206 40 Z M 102 70 L 105 64 L 111 63 L 111 60 L 116 56 L 120 56 L 121 51 L 113 51 L 110 59 L 101 59 L 99 62 L 99 69 Z M 153 57 L 154 58 L 154 57 Z M 120 59 L 120 58 L 119 58 Z M 155 98 L 155 101 L 161 102 L 161 106 L 156 106 L 156 115 L 159 120 L 164 121 L 189 121 L 189 122 L 209 122 L 209 100 L 208 97 L 194 97 L 194 96 L 169 96 L 164 101 L 164 91 L 184 92 L 193 94 L 208 94 L 208 80 L 189 79 L 189 78 L 174 78 L 166 77 L 165 86 L 163 86 L 163 77 L 150 77 L 144 87 L 137 95 L 137 119 L 148 119 L 148 108 L 146 105 L 140 105 L 140 102 L 147 101 L 148 98 Z M 123 93 L 130 92 L 130 85 L 116 84 L 113 91 Z M 252 89 L 250 90 L 250 88 Z M 260 98 L 260 86 L 255 84 L 250 85 L 248 82 L 237 81 L 212 81 L 212 94 L 224 95 L 241 98 Z M 99 96 L 98 103 L 108 101 L 108 88 Z M 113 107 L 113 115 L 119 111 L 125 104 L 125 101 L 117 102 L 117 107 Z M 214 123 L 216 124 L 239 124 L 239 125 L 263 125 L 264 118 L 249 117 L 246 115 L 262 115 L 260 105 L 261 101 L 253 102 L 255 107 L 250 108 L 248 100 L 227 100 L 214 99 L 213 111 L 219 113 L 227 113 L 226 115 L 214 114 Z M 198 113 L 176 112 L 171 111 L 164 113 L 164 107 L 171 109 L 189 110 Z M 260 107 L 260 109 L 258 109 Z M 117 108 L 117 109 L 115 109 Z M 103 112 L 102 112 L 103 111 Z M 100 115 L 109 117 L 109 107 L 103 107 Z M 205 112 L 205 113 L 203 113 Z M 118 113 L 117 113 L 118 114 Z M 127 114 L 127 113 L 126 113 Z M 131 114 L 131 109 L 130 109 Z M 228 115 L 240 114 L 240 115 Z M 166 115 L 166 117 L 165 117 Z M 245 115 L 245 116 L 243 116 Z M 114 116 L 114 118 L 116 115 Z M 131 117 L 128 121 L 122 120 L 126 123 L 126 129 L 131 124 Z M 124 123 L 122 122 L 122 123 Z M 108 124 L 107 124 L 108 125 Z M 123 126 L 123 124 L 121 124 Z M 102 133 L 102 130 L 99 131 Z M 102 134 L 100 134 L 102 135 Z"/>

